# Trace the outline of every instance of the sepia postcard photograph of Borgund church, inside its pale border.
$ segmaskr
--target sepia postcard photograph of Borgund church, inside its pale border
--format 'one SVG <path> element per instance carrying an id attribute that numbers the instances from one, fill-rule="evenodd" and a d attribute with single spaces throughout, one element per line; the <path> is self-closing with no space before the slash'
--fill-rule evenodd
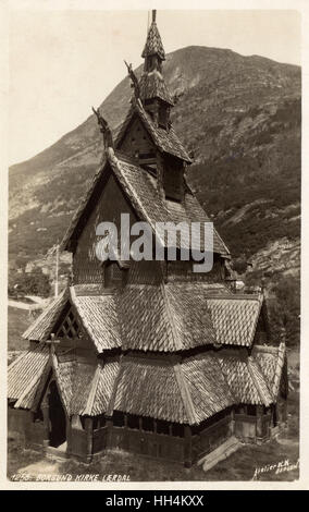
<path id="1" fill-rule="evenodd" d="M 7 479 L 296 485 L 301 12 L 137 5 L 10 8 Z"/>

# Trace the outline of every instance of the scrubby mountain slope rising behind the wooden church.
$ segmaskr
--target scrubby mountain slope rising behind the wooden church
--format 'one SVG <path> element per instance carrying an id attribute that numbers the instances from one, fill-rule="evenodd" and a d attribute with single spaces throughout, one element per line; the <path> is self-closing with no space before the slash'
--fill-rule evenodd
<path id="1" fill-rule="evenodd" d="M 300 217 L 300 69 L 231 50 L 188 47 L 166 57 L 164 76 L 178 97 L 174 127 L 195 153 L 188 180 L 239 272 L 250 257 L 269 261 L 271 273 L 297 273 L 299 252 L 293 247 Z M 123 120 L 129 97 L 125 78 L 102 102 L 113 129 Z M 11 168 L 13 267 L 44 257 L 62 237 L 101 155 L 91 115 L 45 151 Z M 276 257 L 289 244 L 292 257 L 282 268 Z"/>

